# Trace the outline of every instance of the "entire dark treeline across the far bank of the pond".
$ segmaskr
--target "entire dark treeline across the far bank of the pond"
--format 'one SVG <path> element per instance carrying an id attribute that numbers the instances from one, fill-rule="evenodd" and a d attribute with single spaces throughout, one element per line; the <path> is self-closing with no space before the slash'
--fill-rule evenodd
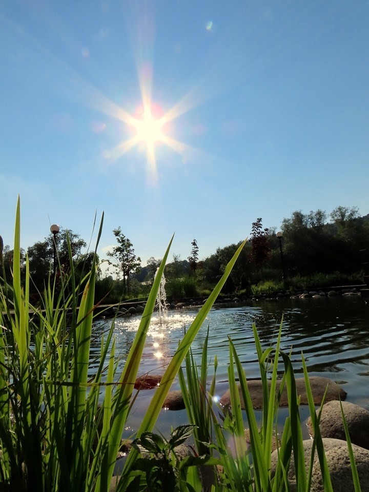
<path id="1" fill-rule="evenodd" d="M 122 298 L 146 296 L 160 259 L 151 257 L 147 265 L 141 267 L 141 259 L 135 255 L 132 242 L 121 229 L 114 229 L 113 234 L 117 245 L 108 254 L 112 274 L 101 277 L 98 270 L 96 301 L 104 299 L 111 303 Z M 222 276 L 240 242 L 217 248 L 214 254 L 200 260 L 201 250 L 194 239 L 188 258 L 173 255 L 166 265 L 168 295 L 177 298 L 206 295 Z M 2 241 L 0 246 L 0 277 L 9 282 L 13 251 Z M 361 217 L 355 207 L 337 207 L 330 214 L 320 209 L 308 214 L 295 211 L 290 218 L 282 220 L 280 231 L 263 228 L 262 218 L 257 218 L 223 292 L 361 283 L 365 267 L 360 250 L 367 248 L 369 214 Z M 83 288 L 84 276 L 93 259 L 93 253 L 84 253 L 85 249 L 86 242 L 78 234 L 64 229 L 29 247 L 31 293 L 34 296 L 42 293 L 48 278 L 55 278 L 56 286 L 68 282 L 71 269 Z M 55 272 L 54 254 L 57 259 Z M 26 252 L 22 251 L 23 264 L 25 258 Z"/>

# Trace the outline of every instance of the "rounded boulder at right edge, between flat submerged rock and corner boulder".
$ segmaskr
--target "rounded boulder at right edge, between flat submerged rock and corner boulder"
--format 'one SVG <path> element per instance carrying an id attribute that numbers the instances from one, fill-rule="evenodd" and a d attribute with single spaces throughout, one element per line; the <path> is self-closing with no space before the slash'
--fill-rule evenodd
<path id="1" fill-rule="evenodd" d="M 342 408 L 351 442 L 369 449 L 369 411 L 346 401 L 342 402 Z M 308 428 L 314 436 L 311 417 Z M 346 440 L 339 401 L 329 401 L 323 405 L 319 428 L 322 437 Z"/>

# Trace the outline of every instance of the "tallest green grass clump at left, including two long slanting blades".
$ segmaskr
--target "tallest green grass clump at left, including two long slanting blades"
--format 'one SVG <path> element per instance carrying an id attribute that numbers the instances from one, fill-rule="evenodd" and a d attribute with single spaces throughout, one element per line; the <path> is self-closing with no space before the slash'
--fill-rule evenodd
<path id="1" fill-rule="evenodd" d="M 97 234 L 97 243 L 103 218 Z M 173 238 L 172 238 L 173 240 Z M 70 275 L 45 285 L 42 308 L 30 302 L 32 279 L 20 281 L 20 202 L 15 219 L 12 278 L 0 279 L 0 490 L 109 490 L 133 401 L 134 382 L 169 249 L 163 257 L 124 370 L 117 374 L 113 324 L 90 370 L 97 266 L 77 283 Z M 243 247 L 189 327 L 137 432 L 151 432 L 174 377 Z M 145 487 L 132 449 L 117 490 Z M 189 480 L 196 483 L 195 474 Z M 191 486 L 191 485 L 189 485 Z M 133 487 L 133 488 L 132 488 Z M 138 487 L 138 488 L 137 488 Z"/>

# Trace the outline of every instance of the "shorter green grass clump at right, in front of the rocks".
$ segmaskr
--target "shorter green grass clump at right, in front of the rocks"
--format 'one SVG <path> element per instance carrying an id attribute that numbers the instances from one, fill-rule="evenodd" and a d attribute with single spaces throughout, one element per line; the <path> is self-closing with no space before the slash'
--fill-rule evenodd
<path id="1" fill-rule="evenodd" d="M 253 333 L 263 388 L 260 420 L 256 418 L 248 389 L 247 375 L 244 373 L 242 363 L 231 339 L 229 340 L 230 365 L 228 367 L 230 407 L 217 408 L 214 406 L 212 397 L 216 391 L 215 376 L 207 383 L 207 371 L 210 363 L 206 359 L 207 339 L 204 344 L 200 368 L 197 367 L 192 355 L 188 354 L 186 373 L 180 372 L 180 384 L 185 396 L 189 421 L 195 426 L 194 437 L 197 452 L 203 455 L 203 463 L 207 463 L 213 469 L 213 480 L 210 483 L 205 482 L 203 487 L 208 487 L 207 490 L 212 492 L 229 490 L 234 492 L 285 492 L 291 489 L 287 477 L 290 467 L 293 466 L 295 473 L 293 490 L 309 491 L 312 486 L 313 462 L 317 456 L 324 491 L 332 492 L 329 468 L 319 430 L 324 397 L 320 409 L 316 413 L 308 370 L 302 356 L 306 393 L 314 427 L 312 454 L 306 458 L 293 367 L 289 355 L 280 350 L 282 324 L 279 328 L 275 348 L 268 347 L 263 351 L 255 325 L 253 325 Z M 216 365 L 215 361 L 215 368 Z M 276 383 L 279 378 L 282 380 L 277 391 Z M 238 384 L 236 383 L 237 380 L 239 381 Z M 285 419 L 280 436 L 280 433 L 278 434 L 280 430 L 278 409 L 283 388 L 286 389 L 288 395 L 289 416 Z M 241 398 L 245 412 L 241 410 Z M 350 453 L 353 483 L 355 490 L 359 491 L 359 477 L 343 411 L 342 417 Z M 249 429 L 250 443 L 245 439 L 246 428 Z M 272 473 L 271 456 L 276 437 L 278 447 L 275 453 L 278 455 L 278 460 Z M 208 462 L 206 457 L 208 457 Z M 215 464 L 214 459 L 216 459 Z M 207 474 L 208 477 L 209 475 L 212 476 Z"/>

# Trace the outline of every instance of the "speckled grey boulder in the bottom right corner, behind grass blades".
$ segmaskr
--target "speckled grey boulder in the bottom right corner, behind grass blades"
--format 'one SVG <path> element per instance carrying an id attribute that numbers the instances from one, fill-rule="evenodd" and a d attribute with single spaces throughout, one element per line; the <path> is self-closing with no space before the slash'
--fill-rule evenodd
<path id="1" fill-rule="evenodd" d="M 303 441 L 306 472 L 308 472 L 310 465 L 312 445 L 312 439 Z M 355 492 L 350 457 L 348 456 L 346 441 L 341 441 L 340 439 L 324 438 L 323 446 L 325 450 L 327 465 L 330 470 L 332 488 L 334 492 Z M 353 452 L 355 456 L 356 467 L 358 470 L 361 491 L 369 492 L 369 450 L 353 444 Z M 275 474 L 277 462 L 278 452 L 274 451 L 272 453 L 272 477 Z M 295 466 L 293 457 L 291 458 L 290 469 L 288 471 L 288 481 L 290 483 L 291 490 L 296 490 Z M 320 464 L 316 452 L 314 455 L 312 483 L 310 491 L 324 492 Z"/>

